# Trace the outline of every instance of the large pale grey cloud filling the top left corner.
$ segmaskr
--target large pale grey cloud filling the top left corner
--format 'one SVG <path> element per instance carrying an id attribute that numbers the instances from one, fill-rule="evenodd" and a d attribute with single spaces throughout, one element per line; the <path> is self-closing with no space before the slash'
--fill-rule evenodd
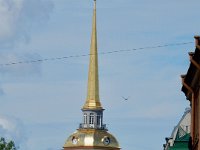
<path id="1" fill-rule="evenodd" d="M 0 48 L 29 41 L 32 27 L 46 22 L 52 9 L 51 0 L 0 0 Z"/>

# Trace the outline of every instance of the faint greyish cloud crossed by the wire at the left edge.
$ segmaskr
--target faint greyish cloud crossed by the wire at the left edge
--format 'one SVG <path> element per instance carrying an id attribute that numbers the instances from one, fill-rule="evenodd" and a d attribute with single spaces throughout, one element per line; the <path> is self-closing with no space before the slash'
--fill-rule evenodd
<path id="1" fill-rule="evenodd" d="M 33 77 L 41 74 L 41 62 L 31 61 L 41 60 L 38 54 L 18 54 L 18 53 L 1 53 L 0 54 L 0 96 L 6 94 L 4 90 L 5 80 L 8 79 L 24 79 L 25 77 Z M 24 63 L 20 63 L 24 62 Z M 10 65 L 11 63 L 16 63 Z"/>

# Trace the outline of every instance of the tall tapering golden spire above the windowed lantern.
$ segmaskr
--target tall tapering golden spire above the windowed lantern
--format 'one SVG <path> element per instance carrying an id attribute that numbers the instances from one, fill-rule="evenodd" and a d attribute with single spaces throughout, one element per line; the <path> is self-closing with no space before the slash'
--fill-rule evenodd
<path id="1" fill-rule="evenodd" d="M 96 29 L 96 0 L 94 0 L 87 100 L 83 109 L 102 109 L 99 100 L 98 52 Z"/>

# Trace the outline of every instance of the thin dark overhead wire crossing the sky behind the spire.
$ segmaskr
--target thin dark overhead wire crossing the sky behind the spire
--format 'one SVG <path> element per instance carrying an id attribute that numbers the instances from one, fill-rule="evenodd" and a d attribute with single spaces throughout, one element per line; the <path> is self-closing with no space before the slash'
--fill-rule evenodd
<path id="1" fill-rule="evenodd" d="M 165 44 L 165 45 L 126 49 L 126 50 L 99 52 L 98 54 L 99 55 L 106 55 L 106 54 L 113 54 L 113 53 L 120 53 L 120 52 L 139 51 L 139 50 L 144 50 L 144 49 L 156 49 L 156 48 L 163 48 L 163 47 L 170 47 L 170 46 L 180 46 L 180 45 L 186 45 L 186 44 L 191 44 L 191 43 L 193 43 L 193 42 L 173 43 L 173 44 Z M 18 64 L 31 64 L 31 63 L 37 63 L 37 62 L 55 61 L 55 60 L 62 60 L 62 59 L 69 59 L 69 58 L 86 57 L 86 56 L 90 56 L 90 55 L 93 55 L 93 54 L 70 55 L 70 56 L 54 57 L 54 58 L 46 58 L 46 59 L 10 62 L 10 63 L 0 64 L 0 66 L 5 67 L 5 66 L 11 66 L 11 65 L 18 65 Z"/>

